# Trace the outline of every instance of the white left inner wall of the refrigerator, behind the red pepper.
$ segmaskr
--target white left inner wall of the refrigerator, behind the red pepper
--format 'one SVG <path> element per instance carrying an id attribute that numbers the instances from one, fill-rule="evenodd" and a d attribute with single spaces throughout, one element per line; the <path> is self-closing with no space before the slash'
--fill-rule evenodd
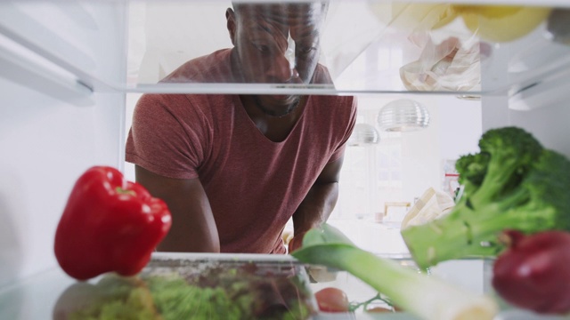
<path id="1" fill-rule="evenodd" d="M 3 285 L 56 265 L 54 230 L 79 174 L 123 167 L 125 95 L 80 78 L 126 79 L 126 4 L 0 7 Z"/>

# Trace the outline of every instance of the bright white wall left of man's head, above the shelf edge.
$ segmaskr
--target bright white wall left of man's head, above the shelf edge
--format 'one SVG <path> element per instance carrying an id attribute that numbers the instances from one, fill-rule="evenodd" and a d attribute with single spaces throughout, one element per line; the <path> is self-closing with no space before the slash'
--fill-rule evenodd
<path id="1" fill-rule="evenodd" d="M 230 1 L 133 5 L 137 11 L 131 16 L 144 22 L 139 36 L 146 45 L 131 48 L 144 51 L 137 79 L 141 84 L 156 84 L 183 62 L 232 46 L 225 27 L 225 9 L 232 6 Z"/>

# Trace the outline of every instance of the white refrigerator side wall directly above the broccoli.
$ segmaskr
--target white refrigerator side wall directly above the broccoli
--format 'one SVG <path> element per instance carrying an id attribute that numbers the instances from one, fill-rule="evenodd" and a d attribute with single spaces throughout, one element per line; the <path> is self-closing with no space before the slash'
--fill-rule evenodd
<path id="1" fill-rule="evenodd" d="M 513 82 L 518 86 L 483 96 L 482 129 L 519 126 L 544 147 L 570 156 L 568 45 L 546 35 L 542 26 L 515 41 L 493 45 L 493 54 L 482 62 L 482 89 Z"/>

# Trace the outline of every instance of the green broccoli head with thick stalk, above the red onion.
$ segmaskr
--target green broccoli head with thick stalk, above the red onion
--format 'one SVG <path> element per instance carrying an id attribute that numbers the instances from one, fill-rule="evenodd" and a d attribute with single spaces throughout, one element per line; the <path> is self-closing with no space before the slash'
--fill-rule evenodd
<path id="1" fill-rule="evenodd" d="M 402 230 L 413 259 L 422 268 L 468 256 L 496 256 L 504 229 L 526 234 L 570 231 L 570 161 L 543 148 L 517 127 L 485 132 L 481 151 L 461 156 L 463 195 L 443 218 Z"/>

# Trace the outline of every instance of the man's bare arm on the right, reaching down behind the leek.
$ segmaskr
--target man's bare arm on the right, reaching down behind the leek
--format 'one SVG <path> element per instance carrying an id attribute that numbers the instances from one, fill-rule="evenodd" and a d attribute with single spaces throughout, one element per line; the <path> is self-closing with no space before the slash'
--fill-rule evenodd
<path id="1" fill-rule="evenodd" d="M 309 229 L 318 227 L 329 219 L 338 200 L 338 178 L 342 163 L 343 156 L 325 165 L 293 214 L 294 236 L 289 242 L 289 252 L 301 247 L 303 236 Z"/>

